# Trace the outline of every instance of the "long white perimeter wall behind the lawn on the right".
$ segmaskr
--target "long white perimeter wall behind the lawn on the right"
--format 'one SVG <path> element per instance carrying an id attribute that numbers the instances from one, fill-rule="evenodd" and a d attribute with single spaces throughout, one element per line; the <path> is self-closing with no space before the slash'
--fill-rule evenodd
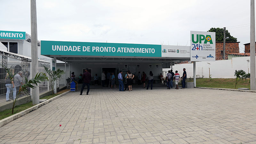
<path id="1" fill-rule="evenodd" d="M 196 62 L 196 75 L 199 77 L 204 76 L 204 78 L 209 78 L 209 67 L 212 78 L 235 78 L 235 70 L 243 69 L 248 73 L 248 67 L 250 72 L 250 63 L 247 62 L 250 57 L 237 57 L 232 58 L 232 60 L 216 60 L 216 61 L 201 61 Z M 182 75 L 183 68 L 186 68 L 187 76 L 193 77 L 193 63 L 190 64 L 177 64 L 172 66 L 173 72 L 178 70 L 178 73 Z M 163 68 L 163 71 L 168 71 L 170 69 Z M 164 72 L 165 75 L 165 72 Z"/>

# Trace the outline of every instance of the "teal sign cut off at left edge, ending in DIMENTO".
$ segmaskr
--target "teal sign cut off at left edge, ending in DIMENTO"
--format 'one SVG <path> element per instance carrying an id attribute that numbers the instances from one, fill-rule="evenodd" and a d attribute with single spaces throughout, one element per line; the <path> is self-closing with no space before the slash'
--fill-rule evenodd
<path id="1" fill-rule="evenodd" d="M 26 32 L 20 31 L 2 31 L 0 30 L 0 39 L 26 39 Z"/>

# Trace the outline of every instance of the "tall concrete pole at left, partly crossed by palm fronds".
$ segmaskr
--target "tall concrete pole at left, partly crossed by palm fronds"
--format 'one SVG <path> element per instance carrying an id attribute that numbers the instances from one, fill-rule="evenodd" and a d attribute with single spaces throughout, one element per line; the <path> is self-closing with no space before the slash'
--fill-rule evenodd
<path id="1" fill-rule="evenodd" d="M 32 78 L 38 73 L 38 53 L 37 53 L 37 23 L 36 23 L 36 0 L 30 0 L 31 15 L 31 65 Z M 32 89 L 32 103 L 39 104 L 39 87 Z"/>

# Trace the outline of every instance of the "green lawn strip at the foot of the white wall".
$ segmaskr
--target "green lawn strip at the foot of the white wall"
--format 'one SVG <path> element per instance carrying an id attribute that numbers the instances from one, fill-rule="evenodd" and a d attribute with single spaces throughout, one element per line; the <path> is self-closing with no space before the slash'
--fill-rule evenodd
<path id="1" fill-rule="evenodd" d="M 197 78 L 196 86 L 197 87 L 213 87 L 213 88 L 228 88 L 235 89 L 236 79 L 235 78 Z M 250 79 L 241 80 L 237 85 L 238 88 L 249 88 L 250 89 Z"/>

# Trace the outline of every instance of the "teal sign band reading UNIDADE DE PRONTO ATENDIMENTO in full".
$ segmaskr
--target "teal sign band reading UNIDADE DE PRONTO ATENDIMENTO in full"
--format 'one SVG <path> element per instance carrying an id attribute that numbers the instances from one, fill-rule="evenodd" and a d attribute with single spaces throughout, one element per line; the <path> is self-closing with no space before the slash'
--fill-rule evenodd
<path id="1" fill-rule="evenodd" d="M 41 41 L 41 54 L 161 57 L 161 45 Z"/>

